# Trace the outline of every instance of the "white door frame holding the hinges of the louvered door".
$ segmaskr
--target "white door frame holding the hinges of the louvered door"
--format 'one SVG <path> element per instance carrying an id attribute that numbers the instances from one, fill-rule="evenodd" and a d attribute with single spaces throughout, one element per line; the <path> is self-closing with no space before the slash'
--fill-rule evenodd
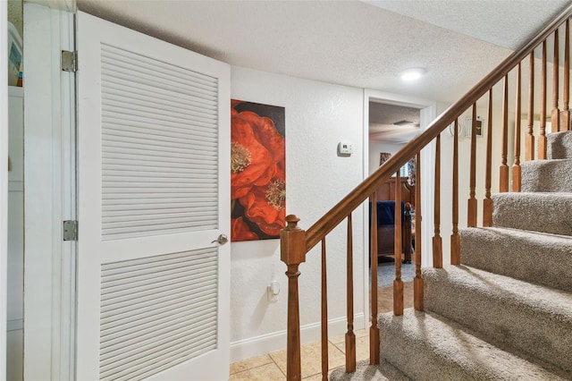
<path id="1" fill-rule="evenodd" d="M 61 70 L 73 12 L 24 3 L 26 379 L 75 379 L 75 242 L 60 238 L 75 219 L 75 80 Z"/>

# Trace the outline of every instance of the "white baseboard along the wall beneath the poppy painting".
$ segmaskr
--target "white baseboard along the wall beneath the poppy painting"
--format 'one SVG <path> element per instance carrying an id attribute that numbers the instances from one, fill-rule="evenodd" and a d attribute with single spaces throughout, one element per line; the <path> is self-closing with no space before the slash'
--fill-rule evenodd
<path id="1" fill-rule="evenodd" d="M 363 329 L 369 321 L 363 313 L 357 314 L 354 318 L 354 329 Z M 328 321 L 328 335 L 330 337 L 345 334 L 348 330 L 348 323 L 345 317 L 333 318 Z M 300 327 L 301 342 L 313 343 L 320 340 L 321 324 L 312 323 Z M 231 343 L 231 362 L 249 359 L 251 357 L 262 356 L 272 351 L 282 351 L 286 349 L 286 331 L 277 331 L 271 334 L 261 334 L 256 337 L 239 340 Z"/>

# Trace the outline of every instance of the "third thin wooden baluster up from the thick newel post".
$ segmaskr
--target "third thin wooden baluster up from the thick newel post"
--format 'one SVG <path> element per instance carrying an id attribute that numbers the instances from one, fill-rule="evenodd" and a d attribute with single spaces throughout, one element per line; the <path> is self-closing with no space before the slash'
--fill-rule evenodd
<path id="1" fill-rule="evenodd" d="M 379 326 L 377 326 L 377 197 L 374 194 L 371 200 L 371 310 L 372 325 L 369 328 L 369 363 L 379 364 Z"/>

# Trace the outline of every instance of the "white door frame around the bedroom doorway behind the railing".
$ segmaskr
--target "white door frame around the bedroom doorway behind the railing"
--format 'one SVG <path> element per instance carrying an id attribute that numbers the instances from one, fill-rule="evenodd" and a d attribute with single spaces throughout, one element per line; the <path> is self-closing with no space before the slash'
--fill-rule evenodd
<path id="1" fill-rule="evenodd" d="M 429 123 L 433 122 L 435 117 L 437 116 L 437 103 L 432 100 L 418 98 L 418 97 L 408 97 L 402 96 L 398 94 L 391 94 L 386 93 L 383 91 L 377 90 L 364 90 L 364 157 L 363 157 L 363 178 L 366 179 L 369 176 L 369 102 L 377 102 L 377 103 L 386 103 L 395 106 L 405 106 L 405 107 L 415 107 L 419 108 L 420 113 L 420 131 L 424 131 L 425 128 L 429 125 Z M 421 151 L 421 178 L 423 179 L 424 186 L 421 188 L 421 204 L 422 205 L 431 205 L 432 203 L 429 202 L 433 199 L 433 170 L 434 170 L 434 163 L 435 163 L 435 143 L 434 140 L 430 143 L 427 147 L 425 147 Z M 364 248 L 369 247 L 369 212 L 367 204 L 364 203 Z M 430 250 L 426 250 L 426 248 L 431 247 L 431 235 L 430 229 L 433 228 L 433 210 L 424 209 L 423 211 L 423 221 L 421 224 L 421 242 L 422 248 L 425 248 L 424 251 L 421 253 L 421 263 L 423 264 L 430 264 L 433 260 L 431 257 Z M 366 252 L 366 255 L 369 256 L 369 253 Z M 368 318 L 371 318 L 370 315 L 370 297 L 369 297 L 369 288 L 370 288 L 370 281 L 369 281 L 369 261 L 367 258 L 364 258 L 364 268 L 363 268 L 363 279 L 364 279 L 364 314 L 366 316 L 365 322 L 368 321 Z M 367 324 L 367 323 L 366 323 Z"/>

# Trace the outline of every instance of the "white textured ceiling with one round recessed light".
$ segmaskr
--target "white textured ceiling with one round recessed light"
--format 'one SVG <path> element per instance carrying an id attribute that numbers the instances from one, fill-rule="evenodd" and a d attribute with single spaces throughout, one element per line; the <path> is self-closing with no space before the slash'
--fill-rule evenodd
<path id="1" fill-rule="evenodd" d="M 450 103 L 568 0 L 78 0 L 232 65 Z M 416 83 L 398 74 L 424 67 Z"/>

